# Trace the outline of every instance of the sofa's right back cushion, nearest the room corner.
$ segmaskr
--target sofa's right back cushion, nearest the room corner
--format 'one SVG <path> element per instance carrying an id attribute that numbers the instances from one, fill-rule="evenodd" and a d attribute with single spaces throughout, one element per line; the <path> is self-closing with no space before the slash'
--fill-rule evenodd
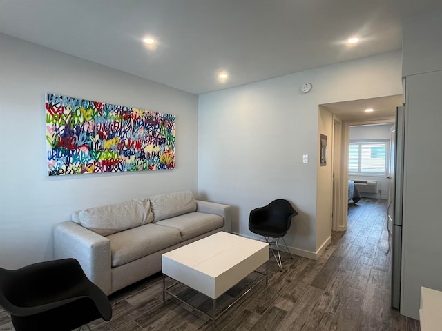
<path id="1" fill-rule="evenodd" d="M 149 197 L 155 222 L 196 211 L 191 191 L 160 194 Z"/>

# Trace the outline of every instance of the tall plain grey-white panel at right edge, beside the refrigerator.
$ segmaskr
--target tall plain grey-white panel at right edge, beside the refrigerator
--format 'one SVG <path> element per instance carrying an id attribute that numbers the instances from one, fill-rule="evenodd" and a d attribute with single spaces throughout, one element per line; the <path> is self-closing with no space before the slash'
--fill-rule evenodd
<path id="1" fill-rule="evenodd" d="M 414 319 L 419 319 L 421 286 L 442 290 L 441 31 L 439 11 L 411 20 L 403 34 L 407 76 L 401 312 Z"/>

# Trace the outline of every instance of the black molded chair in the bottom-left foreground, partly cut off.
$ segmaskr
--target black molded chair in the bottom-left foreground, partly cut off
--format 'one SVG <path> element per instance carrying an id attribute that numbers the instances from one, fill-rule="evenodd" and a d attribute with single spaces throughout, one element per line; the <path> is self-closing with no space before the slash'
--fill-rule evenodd
<path id="1" fill-rule="evenodd" d="M 0 268 L 0 305 L 17 331 L 70 331 L 111 320 L 111 302 L 75 259 Z M 89 329 L 90 330 L 90 329 Z"/>

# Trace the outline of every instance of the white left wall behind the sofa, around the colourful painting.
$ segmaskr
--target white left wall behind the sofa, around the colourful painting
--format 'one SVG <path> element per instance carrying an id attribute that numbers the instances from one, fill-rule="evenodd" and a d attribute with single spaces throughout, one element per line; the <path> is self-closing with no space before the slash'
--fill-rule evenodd
<path id="1" fill-rule="evenodd" d="M 48 177 L 44 93 L 176 115 L 175 170 Z M 0 265 L 52 259 L 74 210 L 197 190 L 198 97 L 0 34 Z"/>

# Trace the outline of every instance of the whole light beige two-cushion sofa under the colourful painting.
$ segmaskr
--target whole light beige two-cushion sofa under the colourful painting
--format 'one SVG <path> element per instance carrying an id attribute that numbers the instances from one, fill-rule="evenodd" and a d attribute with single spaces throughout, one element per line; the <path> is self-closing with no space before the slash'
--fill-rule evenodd
<path id="1" fill-rule="evenodd" d="M 54 229 L 55 259 L 73 257 L 107 295 L 161 271 L 161 255 L 219 231 L 229 205 L 192 192 L 160 194 L 74 212 Z"/>

